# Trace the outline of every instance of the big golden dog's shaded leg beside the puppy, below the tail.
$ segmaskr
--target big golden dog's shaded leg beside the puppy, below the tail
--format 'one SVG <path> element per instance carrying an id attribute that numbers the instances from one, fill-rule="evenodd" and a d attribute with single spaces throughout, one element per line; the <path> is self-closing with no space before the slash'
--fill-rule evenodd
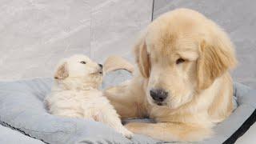
<path id="1" fill-rule="evenodd" d="M 122 119 L 146 116 L 146 102 L 143 102 L 145 94 L 142 94 L 141 86 L 131 83 L 114 86 L 105 90 L 104 95 L 110 100 Z"/>

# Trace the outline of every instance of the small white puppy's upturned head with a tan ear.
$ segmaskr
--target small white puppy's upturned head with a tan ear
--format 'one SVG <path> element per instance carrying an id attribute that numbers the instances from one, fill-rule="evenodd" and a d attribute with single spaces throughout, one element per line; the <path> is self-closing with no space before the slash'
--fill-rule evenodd
<path id="1" fill-rule="evenodd" d="M 102 65 L 82 54 L 65 58 L 57 66 L 54 78 L 66 86 L 79 89 L 80 86 L 98 88 L 102 83 Z M 71 88 L 71 87 L 70 87 Z"/>

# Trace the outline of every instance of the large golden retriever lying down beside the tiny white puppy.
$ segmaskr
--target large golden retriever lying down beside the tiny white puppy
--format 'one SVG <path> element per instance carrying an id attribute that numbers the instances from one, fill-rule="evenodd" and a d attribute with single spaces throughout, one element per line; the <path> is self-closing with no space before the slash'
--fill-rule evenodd
<path id="1" fill-rule="evenodd" d="M 163 141 L 209 138 L 232 110 L 237 63 L 226 33 L 197 11 L 162 14 L 134 46 L 138 70 L 126 85 L 105 90 L 122 118 L 153 118 L 126 128 Z"/>

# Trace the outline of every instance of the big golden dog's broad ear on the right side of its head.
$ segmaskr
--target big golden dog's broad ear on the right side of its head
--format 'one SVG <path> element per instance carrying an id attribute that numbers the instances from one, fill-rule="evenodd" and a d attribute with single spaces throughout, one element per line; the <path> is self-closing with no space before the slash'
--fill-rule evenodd
<path id="1" fill-rule="evenodd" d="M 216 78 L 236 66 L 234 46 L 226 33 L 217 27 L 215 34 L 204 38 L 199 48 L 198 88 L 205 90 Z"/>

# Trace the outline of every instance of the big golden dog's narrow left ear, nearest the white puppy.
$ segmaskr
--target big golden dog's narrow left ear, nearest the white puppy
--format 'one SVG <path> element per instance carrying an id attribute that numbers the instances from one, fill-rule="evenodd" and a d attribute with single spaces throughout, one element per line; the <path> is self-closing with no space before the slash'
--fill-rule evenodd
<path id="1" fill-rule="evenodd" d="M 138 65 L 138 68 L 144 78 L 150 77 L 150 58 L 146 51 L 145 38 L 139 39 L 134 46 L 134 55 Z"/>

